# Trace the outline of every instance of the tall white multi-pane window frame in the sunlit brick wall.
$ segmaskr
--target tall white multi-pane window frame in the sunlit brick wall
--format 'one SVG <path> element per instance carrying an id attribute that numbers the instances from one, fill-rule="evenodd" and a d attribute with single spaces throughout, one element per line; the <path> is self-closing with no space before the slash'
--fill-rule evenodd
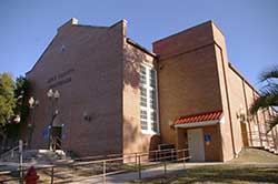
<path id="1" fill-rule="evenodd" d="M 157 81 L 157 71 L 155 69 L 155 67 L 152 64 L 149 63 L 141 63 L 141 67 L 146 68 L 146 84 L 140 83 L 140 86 L 145 88 L 147 90 L 147 106 L 141 106 L 140 104 L 140 112 L 141 110 L 147 112 L 147 130 L 142 130 L 141 132 L 143 134 L 159 134 L 159 109 L 158 109 L 158 81 Z M 155 71 L 155 89 L 150 85 L 150 71 L 153 70 Z M 139 72 L 141 74 L 141 72 Z M 139 88 L 140 89 L 140 88 Z M 151 103 L 150 103 L 150 92 L 155 90 L 155 100 L 156 100 L 156 109 L 151 108 Z M 141 92 L 140 92 L 140 103 L 141 103 Z M 151 123 L 153 122 L 151 120 L 151 113 L 156 112 L 157 114 L 157 131 L 153 131 L 151 129 Z M 140 127 L 141 127 L 141 115 L 140 115 Z"/>

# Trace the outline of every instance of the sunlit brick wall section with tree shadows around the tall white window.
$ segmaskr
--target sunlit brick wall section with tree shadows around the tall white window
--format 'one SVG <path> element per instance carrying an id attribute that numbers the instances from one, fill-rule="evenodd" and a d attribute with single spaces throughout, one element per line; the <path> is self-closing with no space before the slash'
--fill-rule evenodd
<path id="1" fill-rule="evenodd" d="M 142 62 L 156 65 L 156 59 L 125 42 L 123 61 L 123 153 L 148 152 L 157 150 L 160 136 L 143 134 L 140 126 L 140 64 Z"/>

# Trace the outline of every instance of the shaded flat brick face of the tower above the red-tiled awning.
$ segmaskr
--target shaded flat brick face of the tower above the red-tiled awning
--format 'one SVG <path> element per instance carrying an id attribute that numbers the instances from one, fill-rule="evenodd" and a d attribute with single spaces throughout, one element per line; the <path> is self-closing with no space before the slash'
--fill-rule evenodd
<path id="1" fill-rule="evenodd" d="M 211 22 L 207 22 L 153 43 L 159 54 L 162 143 L 178 146 L 170 127 L 177 117 L 222 109 L 211 35 Z"/>

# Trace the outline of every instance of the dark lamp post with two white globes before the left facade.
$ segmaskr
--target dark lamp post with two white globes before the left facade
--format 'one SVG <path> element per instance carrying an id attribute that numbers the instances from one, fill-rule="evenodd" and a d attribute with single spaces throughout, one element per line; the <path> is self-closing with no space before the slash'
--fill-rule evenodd
<path id="1" fill-rule="evenodd" d="M 47 96 L 51 103 L 51 114 L 50 114 L 50 123 L 49 123 L 49 149 L 52 150 L 52 126 L 53 126 L 53 120 L 58 115 L 58 110 L 57 110 L 57 102 L 58 99 L 60 98 L 60 93 L 58 90 L 53 92 L 52 89 L 48 90 Z"/>

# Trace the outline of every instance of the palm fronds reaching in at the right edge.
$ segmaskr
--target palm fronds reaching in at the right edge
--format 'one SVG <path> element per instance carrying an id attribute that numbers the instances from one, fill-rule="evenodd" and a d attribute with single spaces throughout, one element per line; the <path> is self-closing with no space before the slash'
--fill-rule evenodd
<path id="1" fill-rule="evenodd" d="M 250 108 L 250 113 L 254 115 L 259 110 L 268 110 L 278 108 L 278 65 L 270 70 L 266 70 L 260 74 L 260 82 L 265 85 L 260 90 L 260 96 L 255 100 Z M 278 115 L 270 115 L 269 131 L 278 124 Z"/>

